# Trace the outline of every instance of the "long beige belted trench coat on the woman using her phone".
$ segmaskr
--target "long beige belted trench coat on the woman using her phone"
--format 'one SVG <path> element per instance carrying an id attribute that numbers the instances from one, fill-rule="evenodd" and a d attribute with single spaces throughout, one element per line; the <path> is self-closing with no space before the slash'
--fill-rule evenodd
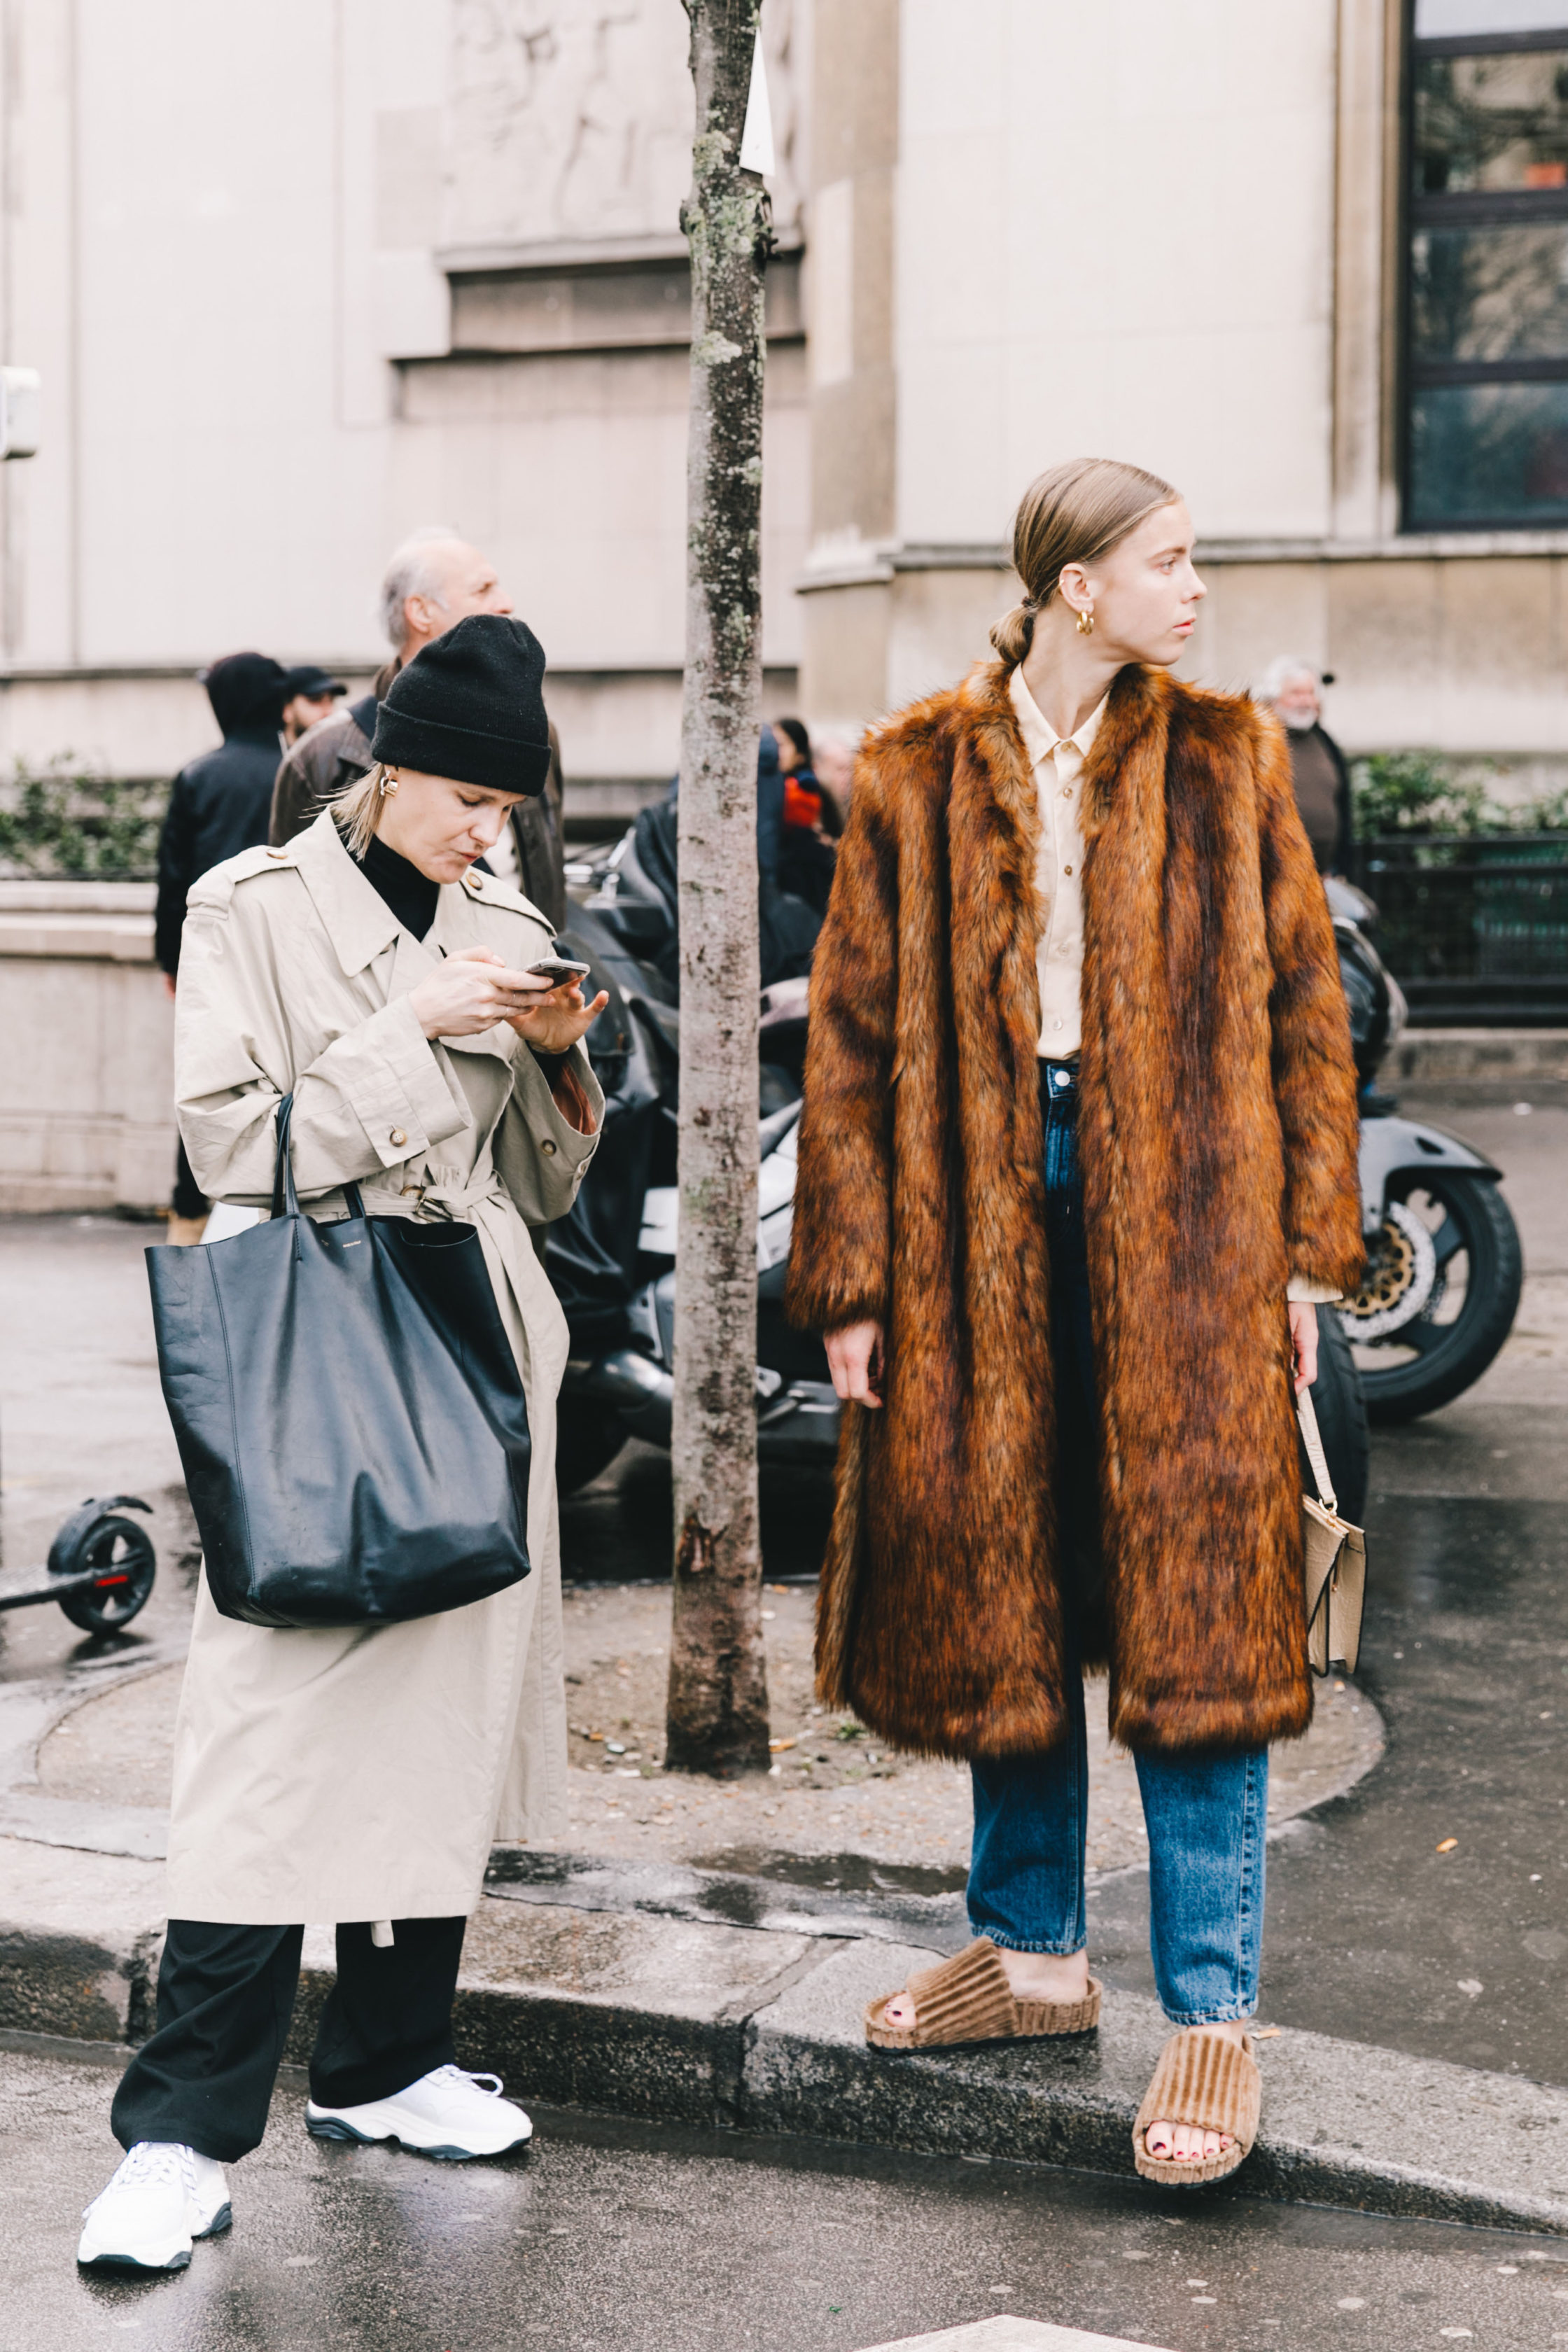
<path id="1" fill-rule="evenodd" d="M 567 1319 L 529 1225 L 562 1216 L 595 1136 L 555 1108 L 498 1025 L 430 1042 L 409 990 L 437 948 L 517 969 L 550 924 L 489 875 L 440 894 L 425 943 L 343 849 L 331 816 L 190 891 L 179 964 L 179 1127 L 209 1200 L 268 1207 L 275 1108 L 294 1089 L 294 1174 L 315 1216 L 355 1178 L 371 1216 L 477 1225 L 522 1369 L 534 1573 L 402 1625 L 280 1630 L 212 1606 L 202 1578 L 174 1733 L 169 1917 L 240 1926 L 473 1910 L 496 1837 L 567 1823 L 555 1392 Z M 604 1096 L 581 1047 L 574 1070 Z M 223 1244 L 219 1244 L 223 1247 Z"/>

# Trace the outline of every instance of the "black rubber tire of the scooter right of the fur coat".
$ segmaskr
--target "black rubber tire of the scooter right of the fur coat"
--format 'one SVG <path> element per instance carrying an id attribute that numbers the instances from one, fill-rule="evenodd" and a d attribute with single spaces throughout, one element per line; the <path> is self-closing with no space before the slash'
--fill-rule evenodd
<path id="1" fill-rule="evenodd" d="M 1450 1404 L 1481 1378 L 1514 1329 L 1523 1284 L 1519 1228 L 1493 1178 L 1469 1176 L 1462 1169 L 1420 1169 L 1403 1178 L 1403 1192 L 1413 1190 L 1427 1192 L 1446 1209 L 1436 1232 L 1439 1261 L 1446 1265 L 1462 1249 L 1469 1265 L 1465 1303 L 1453 1322 L 1429 1322 L 1422 1312 L 1389 1334 L 1392 1341 L 1415 1348 L 1410 1359 L 1389 1364 L 1387 1371 L 1361 1364 L 1368 1418 L 1385 1428 L 1434 1414 L 1439 1404 Z M 1399 1183 L 1389 1185 L 1389 1200 L 1401 1200 L 1403 1192 Z M 1347 1329 L 1354 1338 L 1354 1324 Z"/>

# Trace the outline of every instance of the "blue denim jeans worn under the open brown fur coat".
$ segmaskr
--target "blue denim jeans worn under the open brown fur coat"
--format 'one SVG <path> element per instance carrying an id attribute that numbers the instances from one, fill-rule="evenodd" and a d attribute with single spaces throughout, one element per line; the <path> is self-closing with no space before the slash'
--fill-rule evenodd
<path id="1" fill-rule="evenodd" d="M 1077 1160 L 1077 1084 L 1041 1063 L 1046 1129 L 1046 1237 L 1051 1244 L 1051 1355 L 1058 1404 L 1058 1517 L 1063 1602 L 1077 1611 L 1098 1578 L 1098 1406 L 1084 1188 Z M 1135 1757 L 1150 1832 L 1150 1943 L 1154 1985 L 1173 2025 L 1251 2018 L 1262 1947 L 1262 1853 L 1269 1752 Z M 1067 1736 L 1037 1757 L 973 1764 L 976 1839 L 969 1924 L 1011 1952 L 1081 1952 L 1088 1740 L 1084 1679 L 1070 1658 Z"/>

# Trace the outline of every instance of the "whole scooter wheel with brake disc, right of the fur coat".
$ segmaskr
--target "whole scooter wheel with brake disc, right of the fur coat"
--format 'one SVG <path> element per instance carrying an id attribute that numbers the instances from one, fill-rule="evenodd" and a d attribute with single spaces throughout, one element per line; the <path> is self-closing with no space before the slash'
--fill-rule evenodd
<path id="1" fill-rule="evenodd" d="M 1514 1329 L 1523 1254 L 1490 1176 L 1418 1169 L 1389 1185 L 1361 1298 L 1340 1308 L 1375 1423 L 1472 1388 Z"/>

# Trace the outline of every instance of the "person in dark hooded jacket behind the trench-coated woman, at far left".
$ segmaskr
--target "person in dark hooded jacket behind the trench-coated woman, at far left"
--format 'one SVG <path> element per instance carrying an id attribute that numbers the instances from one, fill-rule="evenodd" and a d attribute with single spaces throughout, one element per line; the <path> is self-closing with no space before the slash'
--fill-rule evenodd
<path id="1" fill-rule="evenodd" d="M 153 946 L 169 995 L 179 971 L 179 934 L 190 884 L 223 858 L 266 842 L 292 675 L 296 673 L 268 654 L 228 654 L 202 670 L 223 743 L 181 767 L 169 786 L 169 809 L 158 835 Z M 200 1242 L 205 1225 L 207 1200 L 181 1143 L 174 1162 L 169 1242 L 179 1247 Z"/>

